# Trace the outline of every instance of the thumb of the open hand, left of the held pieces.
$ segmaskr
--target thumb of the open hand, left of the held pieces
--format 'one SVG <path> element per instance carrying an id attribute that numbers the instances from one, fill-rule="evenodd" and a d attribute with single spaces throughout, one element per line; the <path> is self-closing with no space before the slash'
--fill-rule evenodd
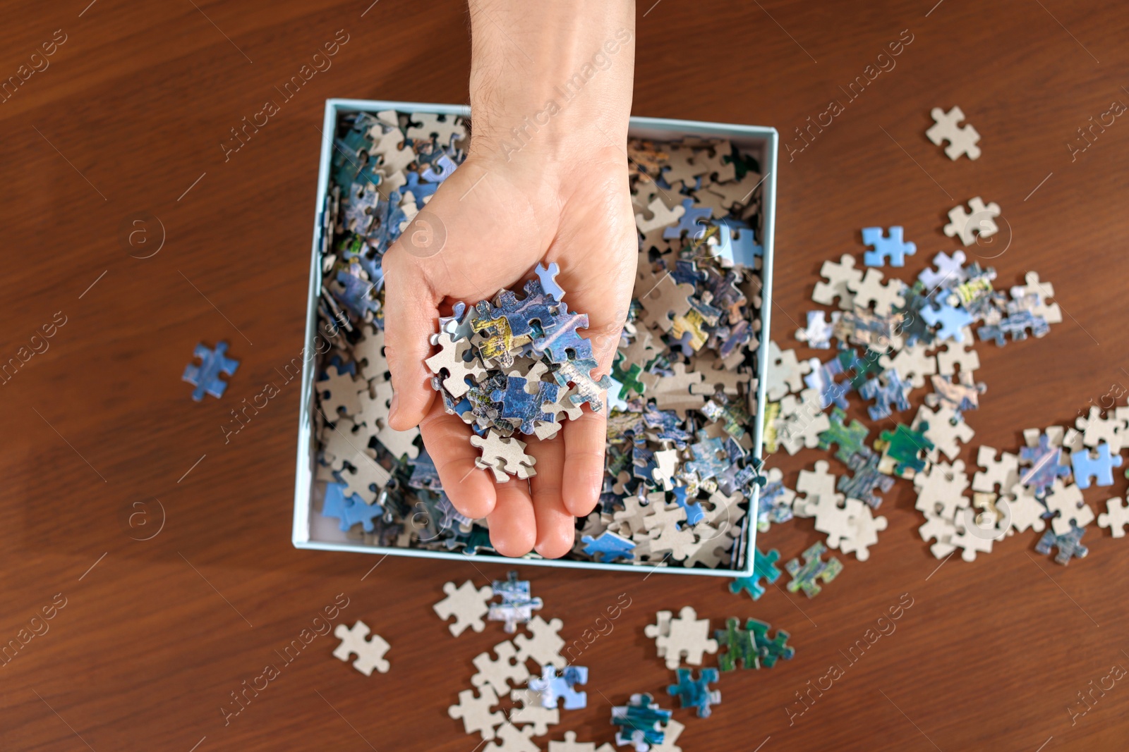
<path id="1" fill-rule="evenodd" d="M 423 361 L 431 355 L 438 300 L 418 260 L 399 241 L 384 255 L 382 266 L 384 354 L 393 388 L 388 425 L 406 431 L 419 425 L 435 399 L 431 372 Z"/>

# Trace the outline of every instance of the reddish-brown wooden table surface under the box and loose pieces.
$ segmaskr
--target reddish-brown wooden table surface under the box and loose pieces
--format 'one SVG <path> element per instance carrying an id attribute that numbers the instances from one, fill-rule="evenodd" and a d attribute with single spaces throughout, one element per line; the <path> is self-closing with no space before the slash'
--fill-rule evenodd
<path id="1" fill-rule="evenodd" d="M 502 634 L 490 625 L 452 638 L 430 607 L 445 581 L 485 584 L 505 568 L 295 550 L 297 386 L 229 443 L 220 430 L 301 346 L 323 100 L 464 101 L 463 6 L 87 2 L 20 2 L 0 26 L 3 77 L 42 68 L 32 54 L 56 42 L 47 67 L 0 104 L 0 361 L 47 346 L 0 392 L 0 642 L 43 609 L 53 616 L 0 669 L 0 747 L 474 749 L 447 706 L 471 658 Z M 640 6 L 633 112 L 774 125 L 798 148 L 795 129 L 841 103 L 804 151 L 781 150 L 772 330 L 782 343 L 812 308 L 820 264 L 861 253 L 861 227 L 905 227 L 919 247 L 909 276 L 954 248 L 940 233 L 948 209 L 977 195 L 1000 204 L 1001 233 L 977 253 L 995 256 L 983 263 L 999 285 L 1038 269 L 1065 320 L 1044 339 L 980 347 L 988 391 L 968 421 L 971 471 L 975 445 L 1014 450 L 1022 428 L 1068 423 L 1129 388 L 1129 124 L 1095 129 L 1074 159 L 1066 145 L 1082 144 L 1077 129 L 1111 101 L 1129 101 L 1129 17 L 1114 2 L 931 3 Z M 335 35 L 348 41 L 332 68 L 225 159 L 230 130 L 281 100 L 275 87 Z M 894 69 L 844 94 L 909 35 Z M 953 105 L 982 134 L 978 161 L 951 162 L 925 139 L 930 108 Z M 130 232 L 141 233 L 132 245 Z M 53 321 L 50 339 L 33 339 Z M 193 402 L 181 370 L 198 340 L 221 338 L 243 364 L 224 399 Z M 791 483 L 820 457 L 773 461 Z M 1123 479 L 1086 498 L 1113 493 Z M 1034 554 L 1029 532 L 938 569 L 909 484 L 882 513 L 890 527 L 870 560 L 844 557 L 812 601 L 772 591 L 754 603 L 699 577 L 524 568 L 569 639 L 630 599 L 580 660 L 587 709 L 553 737 L 572 728 L 610 741 L 609 701 L 664 695 L 671 674 L 644 626 L 692 604 L 717 625 L 768 620 L 797 654 L 726 674 L 709 719 L 677 711 L 688 751 L 1124 747 L 1120 682 L 1074 723 L 1068 708 L 1129 665 L 1129 543 L 1093 527 L 1089 557 L 1064 568 Z M 760 545 L 787 559 L 819 538 L 802 521 Z M 904 593 L 912 607 L 896 630 L 847 658 Z M 280 660 L 339 594 L 339 621 L 365 619 L 392 644 L 388 674 L 333 660 L 332 636 Z M 279 675 L 225 726 L 220 708 L 268 663 Z M 803 707 L 797 692 L 832 664 L 842 676 L 789 725 L 786 708 Z"/>

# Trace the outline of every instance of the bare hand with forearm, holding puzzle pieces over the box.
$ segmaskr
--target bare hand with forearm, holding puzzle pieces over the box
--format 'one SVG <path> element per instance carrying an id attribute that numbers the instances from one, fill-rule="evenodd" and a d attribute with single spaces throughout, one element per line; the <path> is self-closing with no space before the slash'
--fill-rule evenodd
<path id="1" fill-rule="evenodd" d="M 575 516 L 599 498 L 606 408 L 586 406 L 548 441 L 520 436 L 536 475 L 496 484 L 423 361 L 440 307 L 520 287 L 539 263 L 555 262 L 564 302 L 588 315 L 595 375 L 611 369 L 638 258 L 624 150 L 634 3 L 471 0 L 470 11 L 467 158 L 383 260 L 388 423 L 420 426 L 450 502 L 487 517 L 499 554 L 555 558 L 572 547 Z"/>

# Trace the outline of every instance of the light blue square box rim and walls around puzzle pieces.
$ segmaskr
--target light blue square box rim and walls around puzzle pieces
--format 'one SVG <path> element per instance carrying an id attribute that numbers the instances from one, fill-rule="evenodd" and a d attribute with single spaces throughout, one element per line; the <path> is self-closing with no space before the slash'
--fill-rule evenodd
<path id="1" fill-rule="evenodd" d="M 347 113 L 377 113 L 385 109 L 396 109 L 413 113 L 435 113 L 444 115 L 471 114 L 470 107 L 463 105 L 436 105 L 418 101 L 382 101 L 368 99 L 327 99 L 325 101 L 325 122 L 322 126 L 322 154 L 317 171 L 317 201 L 315 204 L 316 220 L 314 222 L 314 242 L 309 262 L 309 294 L 306 301 L 306 353 L 315 348 L 317 334 L 317 298 L 322 289 L 322 233 L 324 232 L 323 207 L 330 188 L 330 165 L 333 156 L 333 135 L 336 132 L 338 116 Z M 733 141 L 747 153 L 759 158 L 763 177 L 761 178 L 761 222 L 758 239 L 764 248 L 763 266 L 761 268 L 761 343 L 756 356 L 756 415 L 764 414 L 764 389 L 768 374 L 768 333 L 770 331 L 770 312 L 772 308 L 772 244 L 776 229 L 776 171 L 777 149 L 779 138 L 776 129 L 756 125 L 733 125 L 727 123 L 703 123 L 698 121 L 665 120 L 660 117 L 632 117 L 630 135 L 645 139 L 672 140 L 685 135 L 703 138 L 725 138 Z M 301 369 L 301 402 L 298 414 L 298 462 L 294 493 L 294 531 L 291 540 L 296 548 L 308 548 L 327 551 L 356 551 L 359 554 L 382 554 L 393 556 L 418 556 L 430 559 L 449 559 L 453 561 L 488 561 L 493 564 L 530 564 L 549 567 L 574 567 L 577 569 L 607 569 L 624 574 L 666 573 L 684 575 L 712 575 L 724 577 L 750 576 L 753 572 L 753 557 L 750 555 L 756 542 L 756 503 L 754 492 L 749 499 L 750 512 L 742 517 L 741 536 L 734 543 L 732 568 L 706 569 L 700 567 L 664 567 L 654 565 L 604 564 L 599 561 L 571 561 L 561 559 L 522 558 L 511 559 L 505 556 L 476 555 L 467 556 L 457 551 L 430 551 L 415 548 L 388 548 L 365 546 L 349 540 L 345 533 L 338 529 L 335 520 L 314 513 L 315 498 L 314 467 L 316 462 L 317 442 L 314 435 L 314 374 L 316 357 L 305 357 Z M 762 441 L 761 423 L 754 421 L 753 457 L 761 457 Z"/>

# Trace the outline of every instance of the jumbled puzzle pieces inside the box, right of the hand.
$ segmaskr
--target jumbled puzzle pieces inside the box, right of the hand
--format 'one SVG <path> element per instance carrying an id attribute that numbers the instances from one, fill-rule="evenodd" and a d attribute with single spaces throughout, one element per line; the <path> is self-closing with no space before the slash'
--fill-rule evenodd
<path id="1" fill-rule="evenodd" d="M 631 140 L 628 153 L 634 298 L 612 370 L 603 495 L 574 550 L 718 567 L 763 480 L 750 451 L 761 176 L 727 141 Z"/>

